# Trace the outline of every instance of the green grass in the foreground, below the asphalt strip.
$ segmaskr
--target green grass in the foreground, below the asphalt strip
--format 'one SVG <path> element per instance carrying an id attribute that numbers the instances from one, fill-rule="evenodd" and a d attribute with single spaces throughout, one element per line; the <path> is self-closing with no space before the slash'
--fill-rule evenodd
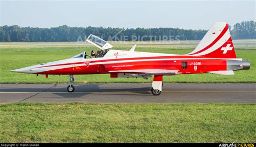
<path id="1" fill-rule="evenodd" d="M 2 104 L 0 142 L 255 142 L 255 104 Z"/>

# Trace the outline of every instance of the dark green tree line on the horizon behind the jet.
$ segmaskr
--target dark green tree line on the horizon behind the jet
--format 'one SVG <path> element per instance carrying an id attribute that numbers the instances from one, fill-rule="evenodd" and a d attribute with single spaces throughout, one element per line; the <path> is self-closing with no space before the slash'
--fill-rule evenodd
<path id="1" fill-rule="evenodd" d="M 254 21 L 242 21 L 231 28 L 232 39 L 256 39 Z M 51 28 L 0 26 L 0 42 L 55 42 L 85 41 L 94 34 L 104 40 L 200 40 L 207 30 L 184 30 L 180 28 L 112 28 L 112 27 L 69 27 Z"/>

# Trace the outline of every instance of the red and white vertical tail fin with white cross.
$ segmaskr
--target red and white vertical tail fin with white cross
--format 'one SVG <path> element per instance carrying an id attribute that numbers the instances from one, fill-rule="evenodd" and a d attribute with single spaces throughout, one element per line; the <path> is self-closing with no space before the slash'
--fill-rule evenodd
<path id="1" fill-rule="evenodd" d="M 214 23 L 204 38 L 199 42 L 196 49 L 188 55 L 213 58 L 237 58 L 228 24 L 224 22 Z"/>

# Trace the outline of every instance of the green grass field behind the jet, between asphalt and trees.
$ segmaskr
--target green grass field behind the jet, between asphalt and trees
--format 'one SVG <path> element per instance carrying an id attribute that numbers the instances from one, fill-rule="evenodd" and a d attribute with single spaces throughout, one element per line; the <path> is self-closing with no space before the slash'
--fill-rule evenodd
<path id="1" fill-rule="evenodd" d="M 241 41 L 240 41 L 241 42 Z M 250 60 L 251 69 L 235 71 L 235 75 L 177 75 L 165 76 L 165 83 L 255 83 L 256 82 L 256 47 L 241 45 L 244 48 L 236 48 L 237 56 Z M 240 46 L 240 45 L 239 45 Z M 132 45 L 117 45 L 113 49 L 129 50 Z M 190 53 L 196 45 L 138 45 L 136 50 L 141 52 L 186 54 Z M 9 72 L 10 70 L 23 68 L 30 65 L 62 60 L 72 57 L 81 52 L 90 53 L 91 50 L 98 50 L 93 46 L 85 46 L 70 42 L 37 42 L 37 43 L 0 43 L 0 83 L 68 83 L 66 75 L 45 78 L 44 75 L 29 75 L 24 73 Z M 75 83 L 145 83 L 143 78 L 110 78 L 105 75 L 77 75 Z M 151 82 L 152 78 L 147 80 Z"/>

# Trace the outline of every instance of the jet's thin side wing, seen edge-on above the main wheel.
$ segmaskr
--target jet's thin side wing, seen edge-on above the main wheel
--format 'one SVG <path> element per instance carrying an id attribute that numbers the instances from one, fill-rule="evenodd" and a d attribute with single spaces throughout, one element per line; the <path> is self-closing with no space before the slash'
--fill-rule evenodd
<path id="1" fill-rule="evenodd" d="M 109 71 L 111 73 L 134 73 L 133 76 L 143 76 L 143 75 L 176 75 L 179 70 L 168 70 L 168 69 L 135 69 L 135 70 L 115 70 Z M 131 75 L 132 76 L 132 75 Z"/>

